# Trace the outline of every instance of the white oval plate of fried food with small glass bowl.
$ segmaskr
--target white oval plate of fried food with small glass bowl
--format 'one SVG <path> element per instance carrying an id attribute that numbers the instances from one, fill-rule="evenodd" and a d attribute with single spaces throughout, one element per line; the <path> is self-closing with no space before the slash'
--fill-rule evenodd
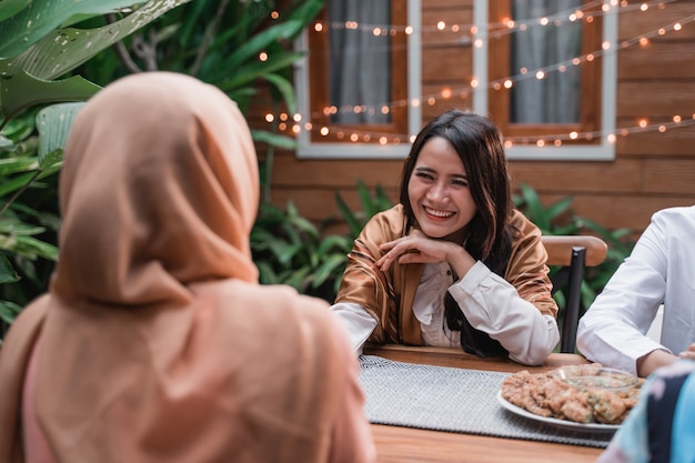
<path id="1" fill-rule="evenodd" d="M 615 431 L 637 403 L 644 383 L 598 363 L 545 373 L 520 371 L 504 379 L 497 401 L 510 412 L 585 431 Z"/>

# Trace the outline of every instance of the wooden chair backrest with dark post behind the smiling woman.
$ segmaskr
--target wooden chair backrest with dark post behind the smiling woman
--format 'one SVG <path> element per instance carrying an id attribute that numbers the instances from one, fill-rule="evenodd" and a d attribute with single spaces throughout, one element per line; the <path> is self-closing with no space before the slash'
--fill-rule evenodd
<path id="1" fill-rule="evenodd" d="M 541 241 L 547 251 L 547 264 L 561 266 L 551 276 L 553 293 L 566 286 L 560 352 L 574 353 L 584 268 L 600 265 L 606 259 L 608 245 L 593 235 L 543 235 Z"/>

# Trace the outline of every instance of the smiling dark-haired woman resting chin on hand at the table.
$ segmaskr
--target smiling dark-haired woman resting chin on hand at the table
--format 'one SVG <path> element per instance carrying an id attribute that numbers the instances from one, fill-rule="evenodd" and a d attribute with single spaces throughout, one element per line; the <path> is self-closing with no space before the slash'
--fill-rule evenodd
<path id="1" fill-rule="evenodd" d="M 422 129 L 400 204 L 349 254 L 331 310 L 353 346 L 461 345 L 541 364 L 560 339 L 541 231 L 513 209 L 497 127 L 447 111 Z"/>

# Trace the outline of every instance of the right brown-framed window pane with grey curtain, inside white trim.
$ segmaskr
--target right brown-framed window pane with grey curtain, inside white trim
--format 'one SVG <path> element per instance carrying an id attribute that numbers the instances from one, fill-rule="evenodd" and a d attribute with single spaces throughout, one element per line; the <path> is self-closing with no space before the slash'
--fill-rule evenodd
<path id="1" fill-rule="evenodd" d="M 487 110 L 506 139 L 600 143 L 592 134 L 602 125 L 601 3 L 490 0 L 488 7 L 488 79 L 495 84 Z"/>

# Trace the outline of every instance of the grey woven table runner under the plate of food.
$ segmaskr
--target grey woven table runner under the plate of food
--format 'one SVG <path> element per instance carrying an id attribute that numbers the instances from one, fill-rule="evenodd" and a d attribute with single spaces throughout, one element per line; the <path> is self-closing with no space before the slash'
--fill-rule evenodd
<path id="1" fill-rule="evenodd" d="M 557 426 L 510 412 L 497 402 L 511 373 L 360 356 L 371 423 L 526 441 L 605 447 L 614 432 Z"/>

